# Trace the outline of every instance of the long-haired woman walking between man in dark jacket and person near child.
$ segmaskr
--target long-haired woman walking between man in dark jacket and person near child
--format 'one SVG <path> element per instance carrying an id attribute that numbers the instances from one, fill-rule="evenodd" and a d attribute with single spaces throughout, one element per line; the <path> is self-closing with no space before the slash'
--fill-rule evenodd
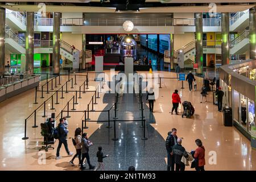
<path id="1" fill-rule="evenodd" d="M 69 162 L 69 164 L 71 164 L 72 166 L 75 166 L 73 161 L 75 160 L 77 155 L 79 156 L 79 164 L 81 165 L 81 155 L 82 155 L 82 137 L 81 137 L 81 132 L 82 132 L 81 128 L 78 127 L 75 130 L 75 139 L 72 138 L 73 145 L 76 148 L 76 154 L 73 156 L 73 158 Z"/>

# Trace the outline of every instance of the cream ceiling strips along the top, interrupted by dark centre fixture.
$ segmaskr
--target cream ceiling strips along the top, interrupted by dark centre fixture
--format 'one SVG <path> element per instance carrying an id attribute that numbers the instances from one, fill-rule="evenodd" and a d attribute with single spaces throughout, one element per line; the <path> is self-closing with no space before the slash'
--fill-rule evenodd
<path id="1" fill-rule="evenodd" d="M 40 7 L 36 5 L 1 5 L 13 11 L 38 11 Z M 217 13 L 237 12 L 247 10 L 253 5 L 226 5 L 217 6 Z M 141 8 L 139 13 L 208 13 L 208 6 L 176 6 L 176 7 L 151 7 Z M 90 6 L 46 6 L 47 12 L 61 13 L 114 13 L 114 7 L 90 7 Z"/>

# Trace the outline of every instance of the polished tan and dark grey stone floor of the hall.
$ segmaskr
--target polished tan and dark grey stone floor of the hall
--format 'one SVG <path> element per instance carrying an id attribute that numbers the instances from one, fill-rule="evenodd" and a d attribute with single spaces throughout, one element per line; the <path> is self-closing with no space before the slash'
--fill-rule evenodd
<path id="1" fill-rule="evenodd" d="M 117 74 L 117 72 L 115 72 Z M 139 74 L 147 72 L 139 72 Z M 175 73 L 158 71 L 154 72 L 162 77 L 175 77 Z M 81 73 L 82 74 L 82 73 Z M 109 71 L 105 71 L 106 75 L 110 75 Z M 90 74 L 89 90 L 93 91 L 98 87 L 98 82 L 94 80 L 94 74 Z M 61 78 L 63 85 L 67 81 L 67 76 Z M 112 80 L 110 80 L 112 81 Z M 143 81 L 146 81 L 143 80 Z M 42 81 L 40 84 L 44 84 Z M 77 85 L 69 90 L 79 90 L 79 86 L 84 82 L 84 77 L 77 78 Z M 202 78 L 197 78 L 197 86 L 201 87 Z M 105 88 L 107 88 L 107 82 Z M 57 85 L 60 88 L 61 85 Z M 144 106 L 146 124 L 146 137 L 148 140 L 141 140 L 142 129 L 139 128 L 140 122 L 117 122 L 117 137 L 119 140 L 113 141 L 113 123 L 112 128 L 107 129 L 107 123 L 87 122 L 89 129 L 84 129 L 88 133 L 89 139 L 94 145 L 90 148 L 90 157 L 92 163 L 97 164 L 96 149 L 101 145 L 105 154 L 109 154 L 109 158 L 104 159 L 105 168 L 110 170 L 125 170 L 128 166 L 133 165 L 137 169 L 142 170 L 164 170 L 166 169 L 166 149 L 164 140 L 168 131 L 172 127 L 176 127 L 178 137 L 183 138 L 183 146 L 187 151 L 195 150 L 195 139 L 200 138 L 206 148 L 205 159 L 207 164 L 206 170 L 256 170 L 256 151 L 252 150 L 250 141 L 246 139 L 240 131 L 235 127 L 225 127 L 222 123 L 222 113 L 217 111 L 217 106 L 212 104 L 212 92 L 209 92 L 208 102 L 200 103 L 200 90 L 188 92 L 188 85 L 184 83 L 185 89 L 181 89 L 181 82 L 175 79 L 163 79 L 162 88 L 157 89 L 159 96 L 156 98 L 154 113 L 148 112 L 148 104 Z M 55 88 L 55 89 L 58 89 Z M 181 118 L 181 115 L 171 115 L 169 113 L 171 104 L 171 94 L 174 89 L 179 90 L 181 102 L 188 100 L 195 107 L 195 115 L 192 118 Z M 88 90 L 88 89 L 87 89 Z M 46 153 L 39 152 L 42 146 L 43 137 L 40 134 L 40 127 L 32 128 L 34 125 L 34 116 L 27 121 L 27 137 L 29 139 L 22 140 L 24 137 L 24 119 L 28 117 L 44 100 L 51 97 L 51 94 L 44 93 L 45 98 L 39 98 L 39 104 L 34 103 L 35 90 L 28 90 L 18 96 L 0 103 L 0 158 L 1 170 L 79 170 L 78 160 L 75 160 L 75 167 L 68 162 L 71 160 L 67 156 L 64 147 L 61 147 L 60 155 L 63 158 L 56 160 L 55 142 L 54 150 Z M 103 91 L 102 91 L 103 92 Z M 67 104 L 67 101 L 75 96 L 75 92 L 64 93 L 63 99 L 59 98 L 60 104 L 54 105 L 55 110 L 51 109 L 51 102 L 47 102 L 46 115 L 49 117 L 52 112 L 59 114 Z M 93 92 L 82 93 L 75 105 L 77 111 L 86 110 L 87 105 L 93 96 Z M 108 109 L 114 101 L 113 94 L 99 93 L 100 98 L 97 99 L 95 110 Z M 59 96 L 60 97 L 60 96 Z M 144 98 L 143 98 L 144 100 Z M 54 100 L 55 101 L 55 100 Z M 138 97 L 135 94 L 120 94 L 120 104 L 118 105 L 118 119 L 122 118 L 139 118 Z M 90 105 L 91 107 L 91 105 Z M 182 107 L 179 106 L 181 113 Z M 43 109 L 40 108 L 36 114 L 37 125 L 45 121 L 42 117 Z M 84 113 L 70 113 L 68 146 L 69 150 L 75 152 L 72 145 L 71 137 L 76 127 L 81 127 Z M 106 115 L 101 113 L 90 113 L 90 119 L 95 121 L 106 120 Z M 113 113 L 111 113 L 113 117 Z M 120 125 L 119 125 L 120 124 Z M 137 142 L 137 143 L 136 143 Z M 152 150 L 152 151 L 151 151 Z M 120 154 L 118 154 L 118 152 Z M 212 153 L 216 153 L 216 163 L 210 163 Z M 45 158 L 44 158 L 45 155 Z M 42 156 L 43 159 L 42 160 Z M 186 170 L 194 170 L 186 167 Z"/>

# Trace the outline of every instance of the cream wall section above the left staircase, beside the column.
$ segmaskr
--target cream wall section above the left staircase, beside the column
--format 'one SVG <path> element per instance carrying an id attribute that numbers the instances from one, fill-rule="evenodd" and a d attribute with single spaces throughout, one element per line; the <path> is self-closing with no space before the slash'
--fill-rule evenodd
<path id="1" fill-rule="evenodd" d="M 62 40 L 68 44 L 74 45 L 76 49 L 82 49 L 82 34 L 72 34 L 71 32 L 63 32 Z"/>

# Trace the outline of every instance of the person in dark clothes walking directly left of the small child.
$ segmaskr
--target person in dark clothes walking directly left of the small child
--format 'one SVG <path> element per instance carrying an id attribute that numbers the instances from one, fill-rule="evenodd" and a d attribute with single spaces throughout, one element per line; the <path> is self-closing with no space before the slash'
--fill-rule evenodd
<path id="1" fill-rule="evenodd" d="M 84 169 L 84 159 L 86 158 L 87 163 L 89 165 L 89 169 L 94 169 L 94 166 L 90 164 L 90 156 L 89 156 L 89 147 L 92 146 L 93 143 L 88 140 L 87 133 L 82 134 L 82 160 L 81 160 L 81 167 L 80 169 Z"/>

